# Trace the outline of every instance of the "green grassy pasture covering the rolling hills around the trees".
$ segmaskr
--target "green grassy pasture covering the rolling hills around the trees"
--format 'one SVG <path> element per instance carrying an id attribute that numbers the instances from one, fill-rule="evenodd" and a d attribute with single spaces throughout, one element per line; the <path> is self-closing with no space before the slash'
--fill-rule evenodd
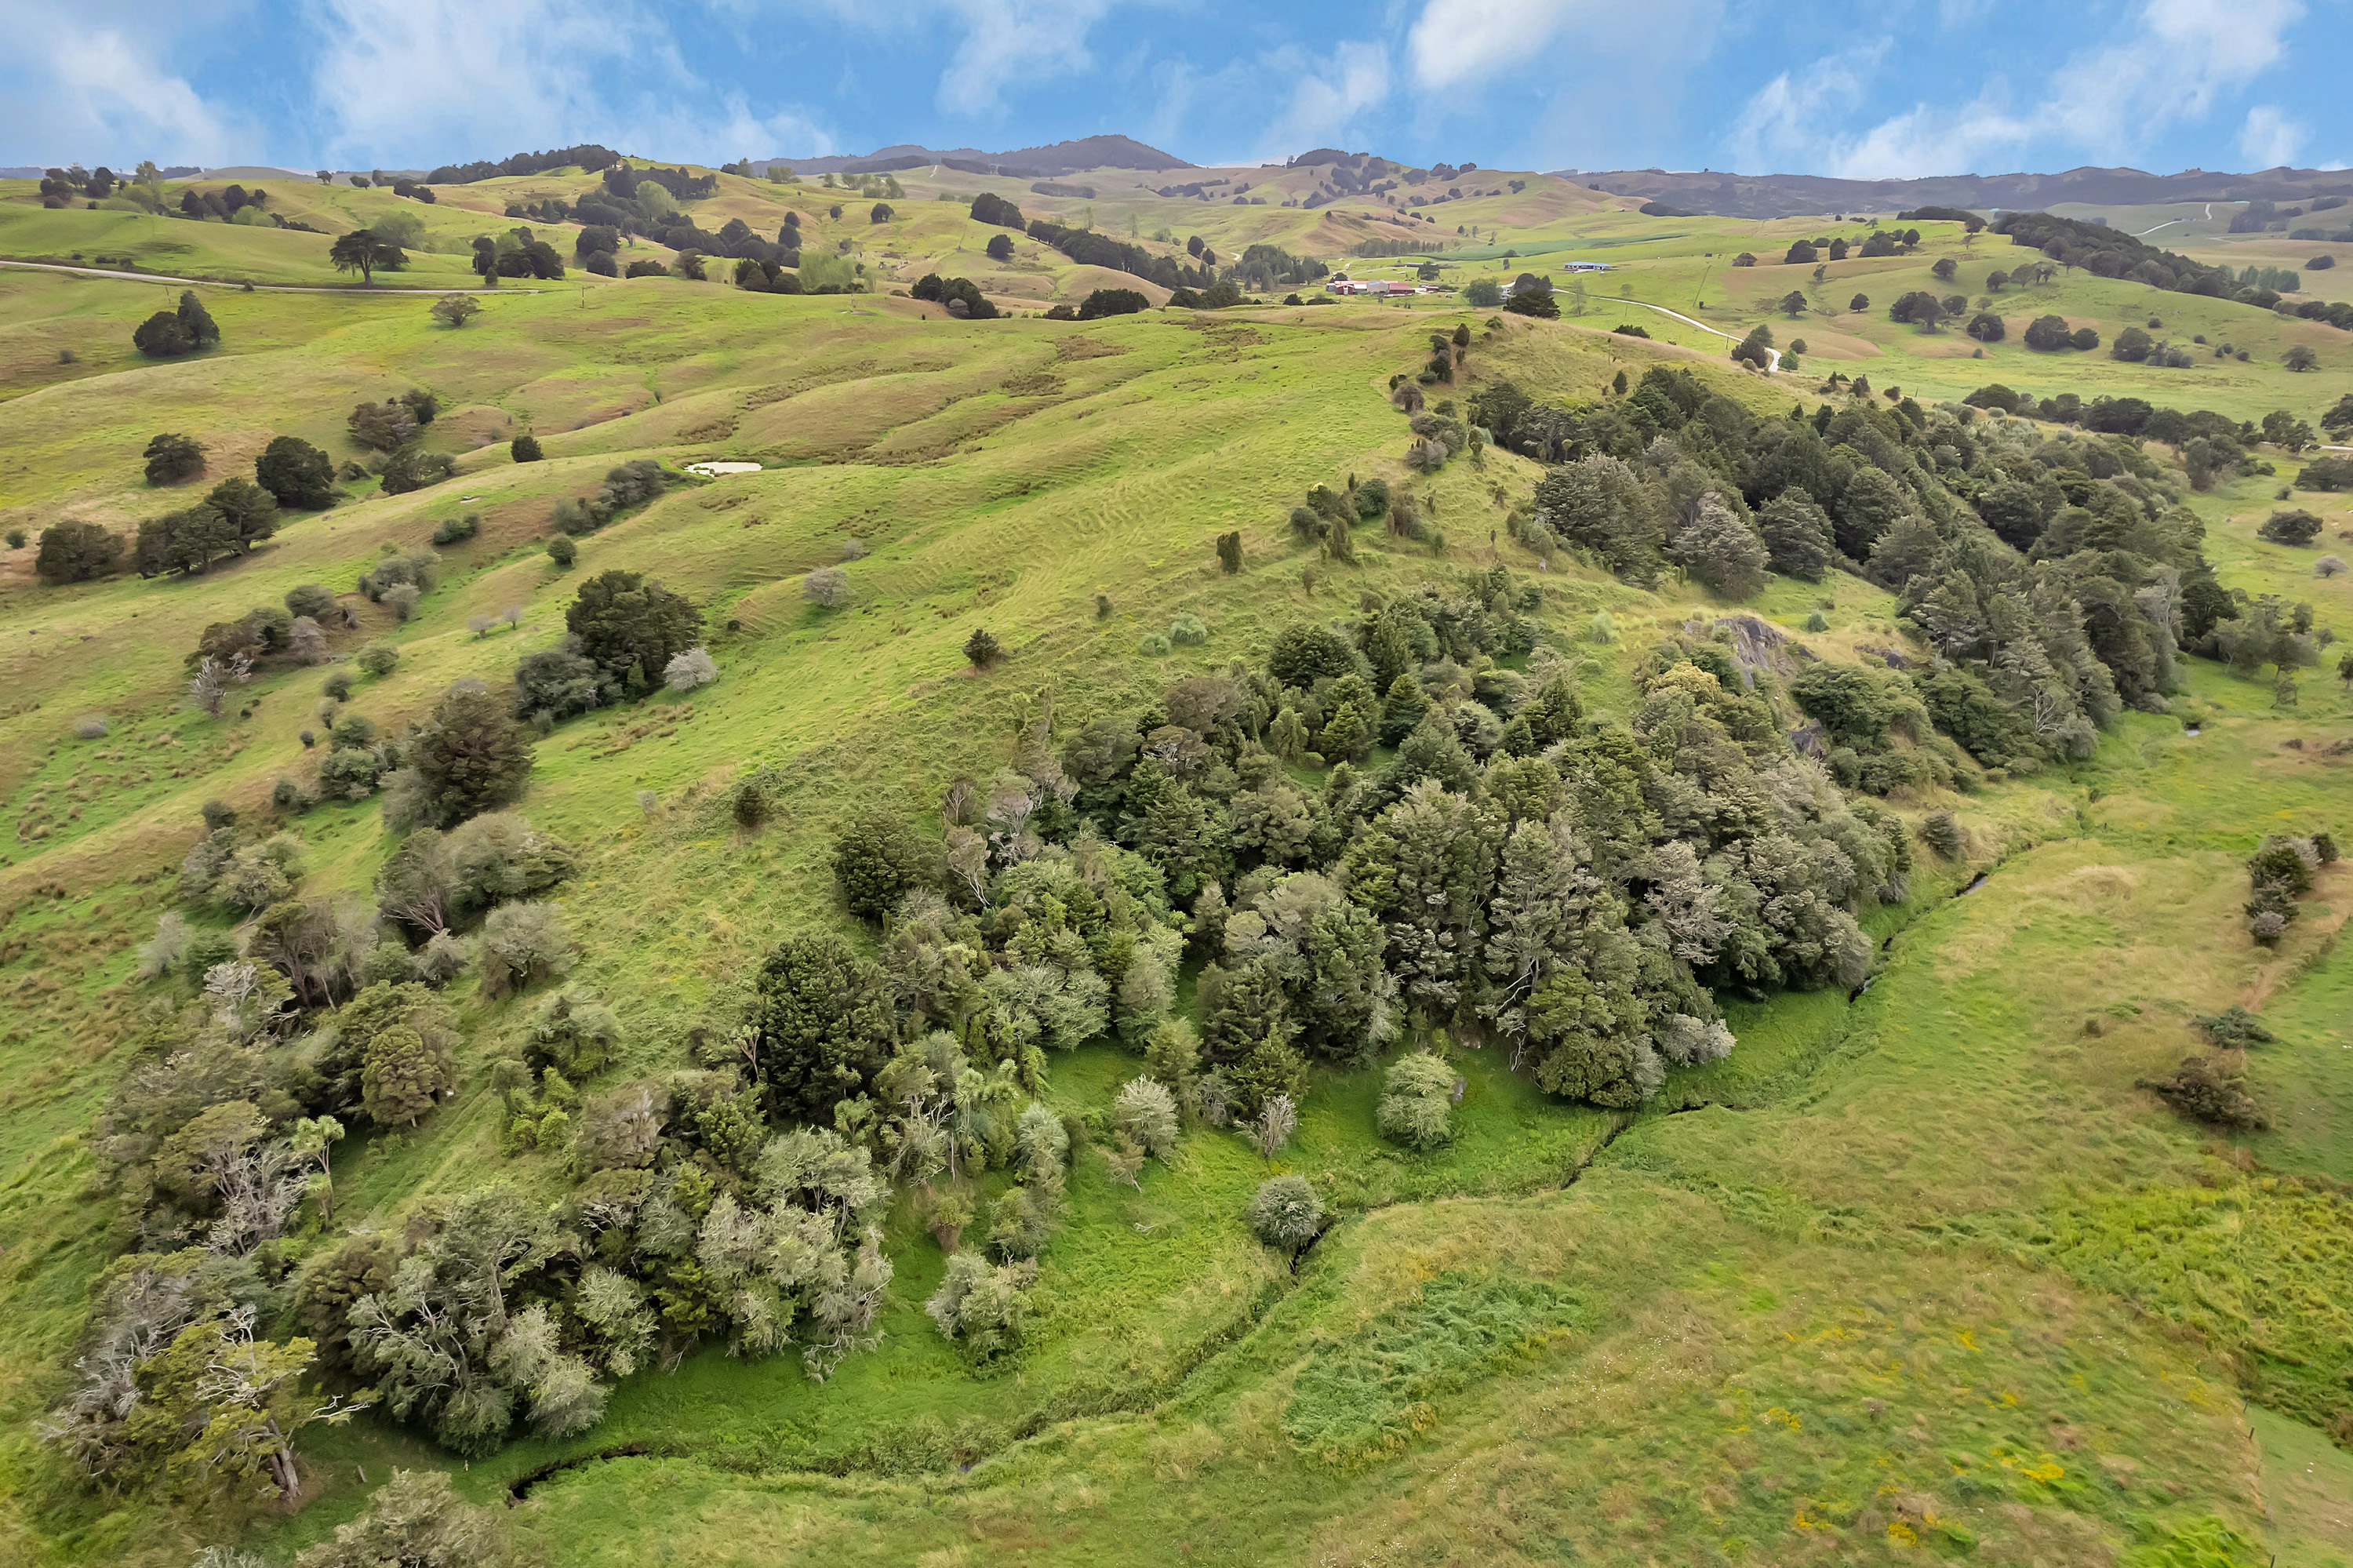
<path id="1" fill-rule="evenodd" d="M 1148 198 L 1132 174 L 1113 195 L 1113 174 L 1073 177 L 1094 179 L 1094 221 L 1111 233 L 1132 219 L 1144 238 L 1167 226 L 1221 252 L 1348 233 L 1329 210 Z M 1273 188 L 1301 184 L 1266 174 Z M 774 233 L 791 207 L 885 278 L 972 275 L 1024 308 L 1115 280 L 1031 240 L 988 264 L 991 231 L 962 202 L 925 200 L 984 181 L 899 179 L 908 200 L 880 226 L 866 221 L 871 200 L 736 177 L 720 177 L 696 221 L 744 217 Z M 1506 179 L 1478 172 L 1480 188 Z M 428 214 L 435 233 L 461 235 L 504 212 L 508 186 L 539 198 L 586 184 L 447 188 Z M 275 539 L 202 577 L 45 586 L 31 544 L 0 553 L 0 979 L 16 1003 L 0 1026 L 0 1311 L 19 1326 L 0 1347 L 0 1549 L 31 1563 L 179 1563 L 242 1535 L 289 1561 L 353 1519 L 391 1467 L 433 1467 L 485 1502 L 522 1488 L 508 1519 L 527 1549 L 562 1563 L 774 1561 L 779 1540 L 812 1561 L 894 1563 L 1753 1563 L 1920 1549 L 1993 1563 L 2257 1563 L 2266 1549 L 2344 1561 L 2353 1542 L 2329 1481 L 2344 1453 L 2315 1422 L 2341 1403 L 2327 1380 L 2353 1354 L 2353 1212 L 2339 1187 L 2353 1177 L 2339 1052 L 2353 949 L 2337 939 L 2353 873 L 2322 871 L 2278 949 L 2249 942 L 2240 904 L 2261 833 L 2353 826 L 2341 749 L 2353 697 L 2322 669 L 2299 706 L 2278 709 L 2271 683 L 2202 659 L 2184 662 L 2174 713 L 2125 713 L 2082 763 L 2009 779 L 1972 768 L 1967 793 L 1901 791 L 1906 822 L 1951 810 L 1965 838 L 1951 857 L 1918 845 L 1911 897 L 1871 916 L 1871 986 L 1727 996 L 1739 1050 L 1678 1069 L 1640 1114 L 1544 1095 L 1489 1045 L 1464 1052 L 1459 1137 L 1435 1154 L 1377 1132 L 1379 1069 L 1355 1069 L 1318 1071 L 1301 1132 L 1273 1163 L 1212 1130 L 1188 1132 L 1136 1187 L 1080 1163 L 1014 1370 L 974 1373 L 925 1318 L 946 1260 L 901 1196 L 885 1227 L 896 1281 L 882 1344 L 824 1384 L 795 1356 L 706 1347 L 621 1382 L 593 1431 L 515 1441 L 471 1467 L 369 1415 L 306 1434 L 311 1490 L 292 1516 L 191 1516 L 92 1493 L 33 1441 L 120 1243 L 87 1132 L 136 1055 L 139 1012 L 162 994 L 132 977 L 132 949 L 176 906 L 205 800 L 268 819 L 273 784 L 315 770 L 301 732 L 318 725 L 320 669 L 271 669 L 224 718 L 181 706 L 184 655 L 249 605 L 306 582 L 341 593 L 360 626 L 334 631 L 339 659 L 374 638 L 400 650 L 348 704 L 386 730 L 454 680 L 504 685 L 520 655 L 560 638 L 593 572 L 642 570 L 706 607 L 720 680 L 558 725 L 536 744 L 522 803 L 581 855 L 560 890 L 579 949 L 567 979 L 619 1010 L 621 1078 L 682 1067 L 689 1029 L 736 1003 L 781 937 L 854 930 L 826 864 L 852 810 L 880 800 L 936 826 L 946 784 L 988 777 L 1047 709 L 1059 742 L 1181 676 L 1259 664 L 1292 624 L 1353 619 L 1365 593 L 1452 591 L 1499 560 L 1541 589 L 1541 647 L 1574 662 L 1586 709 L 1628 711 L 1635 664 L 1732 603 L 1680 579 L 1633 589 L 1567 553 L 1539 570 L 1508 530 L 1544 473 L 1527 459 L 1489 450 L 1409 471 L 1405 417 L 1384 393 L 1428 356 L 1435 327 L 1471 327 L 1457 398 L 1511 377 L 1581 403 L 1607 398 L 1619 370 L 1675 365 L 1769 419 L 1812 410 L 1817 358 L 1922 403 L 2002 379 L 2311 417 L 2353 384 L 2341 341 L 2318 344 L 2320 372 L 2289 377 L 2278 346 L 2301 327 L 2087 278 L 2005 299 L 2005 313 L 2021 327 L 2047 308 L 2106 337 L 2158 299 L 2172 332 L 2212 327 L 2271 353 L 2184 372 L 2014 341 L 1984 363 L 1946 353 L 1974 344 L 1885 323 L 1887 299 L 1929 287 L 1941 235 L 1918 257 L 1833 264 L 1824 320 L 1777 327 L 1784 344 L 1809 339 L 1807 372 L 1767 379 L 1657 313 L 1645 313 L 1657 341 L 1607 327 L 1619 301 L 1654 301 L 1744 332 L 1774 311 L 1772 283 L 1802 287 L 1809 268 L 1732 271 L 1729 254 L 1762 257 L 1774 235 L 1779 254 L 1805 224 L 1642 219 L 1551 186 L 1438 212 L 1447 226 L 1499 226 L 1497 252 L 1520 245 L 1508 264 L 1449 257 L 1449 283 L 1508 278 L 1553 242 L 1551 266 L 1621 264 L 1591 283 L 1591 311 L 1562 323 L 1489 320 L 1442 299 L 953 323 L 889 294 L 600 278 L 581 290 L 574 275 L 560 292 L 504 290 L 459 332 L 414 297 L 207 290 L 224 346 L 144 363 L 127 334 L 169 301 L 153 285 L 0 273 L 5 527 L 134 527 L 195 499 L 141 478 L 158 431 L 207 445 L 191 490 L 249 473 L 278 433 L 358 457 L 344 414 L 407 388 L 440 398 L 426 443 L 456 459 L 454 478 L 412 494 L 365 480 L 332 511 L 287 513 Z M 1061 221 L 1089 205 L 1007 195 Z M 346 219 L 398 200 L 301 198 Z M 828 214 L 835 200 L 842 219 Z M 104 247 L 167 266 L 158 247 L 186 245 L 191 271 L 332 280 L 325 242 L 0 200 L 5 254 Z M 1962 287 L 1974 294 L 1995 257 L 1981 238 Z M 471 280 L 459 257 L 421 254 L 402 283 L 442 266 Z M 1857 290 L 1875 315 L 1828 308 Z M 511 461 L 518 431 L 539 436 L 546 461 Z M 680 485 L 584 537 L 579 563 L 558 570 L 544 553 L 558 499 L 591 494 L 633 457 L 765 466 Z M 1445 544 L 1374 527 L 1355 565 L 1320 560 L 1287 516 L 1311 485 L 1348 476 L 1417 497 Z M 2224 586 L 2306 600 L 2320 626 L 2353 631 L 2353 577 L 2315 577 L 2318 551 L 2257 539 L 2280 483 L 2191 494 L 2205 553 Z M 2341 551 L 2344 497 L 2299 504 L 2325 509 L 2320 549 Z M 351 591 L 388 546 L 419 546 L 468 511 L 480 534 L 442 546 L 440 584 L 412 619 Z M 1228 530 L 1242 537 L 1231 577 L 1214 553 Z M 802 582 L 835 563 L 854 600 L 821 610 Z M 496 622 L 508 607 L 513 626 Z M 1857 574 L 1772 579 L 1744 607 L 1840 666 L 1871 647 L 1922 652 L 1897 600 Z M 1612 643 L 1591 640 L 1598 612 Z M 1184 614 L 1207 643 L 1144 652 Z M 475 617 L 494 624 L 475 631 Z M 1824 629 L 1809 631 L 1814 617 Z M 991 671 L 960 652 L 974 626 L 1005 647 Z M 82 716 L 108 732 L 78 737 Z M 760 768 L 776 770 L 779 812 L 746 831 L 729 796 Z M 294 822 L 304 892 L 365 897 L 393 845 L 376 803 Z M 1953 897 L 1979 871 L 1988 878 Z M 518 1048 L 539 991 L 494 998 L 468 975 L 449 996 L 456 1095 L 414 1135 L 336 1149 L 339 1229 L 398 1227 L 419 1201 L 489 1177 L 546 1201 L 569 1191 L 555 1158 L 499 1147 L 492 1062 Z M 2221 1137 L 2137 1081 L 2195 1048 L 2193 1015 L 2233 1001 L 2278 1034 L 2249 1055 L 2249 1085 L 2275 1118 Z M 1096 1041 L 1054 1057 L 1049 1097 L 1104 1109 L 1134 1074 L 1134 1055 Z M 1242 1222 L 1275 1170 L 1308 1175 L 1341 1215 L 1297 1267 Z M 584 1462 L 548 1469 L 572 1460 Z"/>

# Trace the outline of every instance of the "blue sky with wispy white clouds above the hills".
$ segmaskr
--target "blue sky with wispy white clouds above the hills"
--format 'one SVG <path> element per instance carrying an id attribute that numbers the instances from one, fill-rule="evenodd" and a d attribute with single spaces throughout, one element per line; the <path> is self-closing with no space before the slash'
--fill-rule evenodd
<path id="1" fill-rule="evenodd" d="M 1311 146 L 1849 177 L 2353 162 L 2353 0 L 0 0 L 0 165 Z M 2334 82 L 2334 85 L 2332 85 Z"/>

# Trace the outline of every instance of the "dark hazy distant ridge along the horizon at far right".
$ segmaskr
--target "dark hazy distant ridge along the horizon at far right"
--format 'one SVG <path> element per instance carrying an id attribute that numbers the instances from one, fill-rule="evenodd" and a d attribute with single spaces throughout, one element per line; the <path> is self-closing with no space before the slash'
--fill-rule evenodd
<path id="1" fill-rule="evenodd" d="M 2353 195 L 2353 170 L 2066 170 L 2064 174 L 1932 174 L 1927 179 L 1831 179 L 1826 174 L 1725 174 L 1720 170 L 1551 170 L 1612 195 L 1645 195 L 1718 217 L 1800 217 L 1814 212 L 1899 212 L 1906 207 L 2005 207 L 2040 212 L 2061 202 L 2148 207 L 2158 202 L 2247 202 Z"/>

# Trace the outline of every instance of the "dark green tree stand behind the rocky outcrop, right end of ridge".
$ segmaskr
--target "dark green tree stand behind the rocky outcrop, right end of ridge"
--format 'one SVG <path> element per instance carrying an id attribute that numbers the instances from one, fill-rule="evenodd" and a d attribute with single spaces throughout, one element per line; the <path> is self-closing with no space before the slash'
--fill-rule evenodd
<path id="1" fill-rule="evenodd" d="M 1868 396 L 1755 419 L 1666 367 L 1584 407 L 1489 386 L 1473 419 L 1560 464 L 1518 523 L 1541 551 L 1640 584 L 1680 565 L 1732 593 L 1758 567 L 1845 563 L 1897 591 L 1937 664 L 1852 671 L 1838 702 L 1868 685 L 1868 711 L 1809 709 L 1824 746 L 1854 753 L 1838 770 L 1875 786 L 1939 777 L 1946 742 L 1988 768 L 2082 756 L 2118 709 L 2162 711 L 2177 652 L 2247 614 L 2169 471 L 2125 438 Z"/>

